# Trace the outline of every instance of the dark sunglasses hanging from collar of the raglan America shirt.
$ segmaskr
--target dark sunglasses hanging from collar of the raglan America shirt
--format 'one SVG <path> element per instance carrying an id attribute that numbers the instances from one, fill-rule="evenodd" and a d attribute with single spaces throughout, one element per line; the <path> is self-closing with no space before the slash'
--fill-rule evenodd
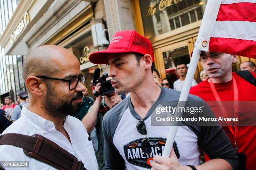
<path id="1" fill-rule="evenodd" d="M 143 120 L 139 121 L 136 125 L 136 128 L 138 130 L 138 133 L 141 135 L 146 135 L 146 138 L 142 140 L 141 142 L 141 150 L 143 153 L 151 154 L 152 153 L 152 148 L 150 141 L 147 137 L 147 129 L 146 129 L 146 124 Z"/>

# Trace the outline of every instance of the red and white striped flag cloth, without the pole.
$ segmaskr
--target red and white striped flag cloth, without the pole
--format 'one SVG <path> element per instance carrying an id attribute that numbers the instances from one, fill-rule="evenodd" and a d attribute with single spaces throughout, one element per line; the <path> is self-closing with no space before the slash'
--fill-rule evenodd
<path id="1" fill-rule="evenodd" d="M 209 45 L 202 44 L 201 46 L 206 48 L 198 49 L 256 58 L 256 0 L 220 0 L 219 2 L 215 22 L 211 24 L 213 29 L 207 34 L 210 37 L 201 37 L 201 42 L 205 40 Z M 216 10 L 211 12 L 214 13 Z M 204 19 L 207 20 L 205 16 L 203 21 Z M 200 46 L 200 42 L 197 44 Z"/>

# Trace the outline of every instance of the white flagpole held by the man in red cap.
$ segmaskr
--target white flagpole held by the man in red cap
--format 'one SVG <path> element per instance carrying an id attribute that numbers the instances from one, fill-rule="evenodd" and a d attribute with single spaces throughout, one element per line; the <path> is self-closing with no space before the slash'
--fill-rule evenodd
<path id="1" fill-rule="evenodd" d="M 222 0 L 208 0 L 207 1 L 207 5 L 205 7 L 205 13 L 202 19 L 202 23 L 200 26 L 200 30 L 197 36 L 197 41 L 195 43 L 195 48 L 193 50 L 193 54 L 191 57 L 191 61 L 189 64 L 189 68 L 187 71 L 187 75 L 186 75 L 186 79 L 184 82 L 184 86 L 182 88 L 182 92 L 180 94 L 179 97 L 179 102 L 178 102 L 178 107 L 184 107 L 185 106 L 185 102 L 187 101 L 187 97 L 189 95 L 189 90 L 195 75 L 195 70 L 197 68 L 197 63 L 199 60 L 199 56 L 202 50 L 204 51 L 209 51 L 209 41 L 210 41 L 210 37 L 212 34 L 212 30 L 214 28 L 215 22 L 216 22 L 216 18 L 218 15 L 218 11 L 220 8 L 220 4 L 221 4 Z M 177 115 L 178 113 L 175 112 L 175 116 L 179 116 Z M 181 114 L 181 113 L 179 113 Z M 174 138 L 176 136 L 177 130 L 178 130 L 179 126 L 171 126 L 168 136 L 167 136 L 167 140 L 164 146 L 164 151 L 162 156 L 165 158 L 169 158 L 169 155 L 172 151 L 172 145 L 174 143 Z"/>

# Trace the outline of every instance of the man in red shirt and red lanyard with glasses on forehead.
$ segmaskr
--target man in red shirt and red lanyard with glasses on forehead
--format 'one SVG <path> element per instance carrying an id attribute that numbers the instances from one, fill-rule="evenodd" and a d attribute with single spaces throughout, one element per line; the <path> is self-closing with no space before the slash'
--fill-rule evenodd
<path id="1" fill-rule="evenodd" d="M 232 65 L 236 61 L 235 55 L 201 52 L 200 62 L 210 78 L 191 87 L 190 94 L 197 95 L 205 101 L 255 101 L 256 87 L 236 72 L 232 72 Z M 256 77 L 255 73 L 251 72 L 251 74 Z M 210 107 L 214 106 L 210 105 Z M 241 114 L 238 115 L 238 118 L 240 117 Z M 233 147 L 238 148 L 238 153 L 246 155 L 246 170 L 254 169 L 256 166 L 256 127 L 223 126 L 223 129 Z"/>

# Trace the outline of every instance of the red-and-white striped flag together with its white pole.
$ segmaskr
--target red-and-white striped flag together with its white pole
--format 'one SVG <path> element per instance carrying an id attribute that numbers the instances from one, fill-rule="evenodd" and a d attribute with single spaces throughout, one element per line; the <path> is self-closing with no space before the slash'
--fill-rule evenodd
<path id="1" fill-rule="evenodd" d="M 187 101 L 201 51 L 256 59 L 255 10 L 256 0 L 207 0 L 179 101 Z M 169 158 L 177 127 L 171 126 L 169 130 L 163 157 Z"/>

